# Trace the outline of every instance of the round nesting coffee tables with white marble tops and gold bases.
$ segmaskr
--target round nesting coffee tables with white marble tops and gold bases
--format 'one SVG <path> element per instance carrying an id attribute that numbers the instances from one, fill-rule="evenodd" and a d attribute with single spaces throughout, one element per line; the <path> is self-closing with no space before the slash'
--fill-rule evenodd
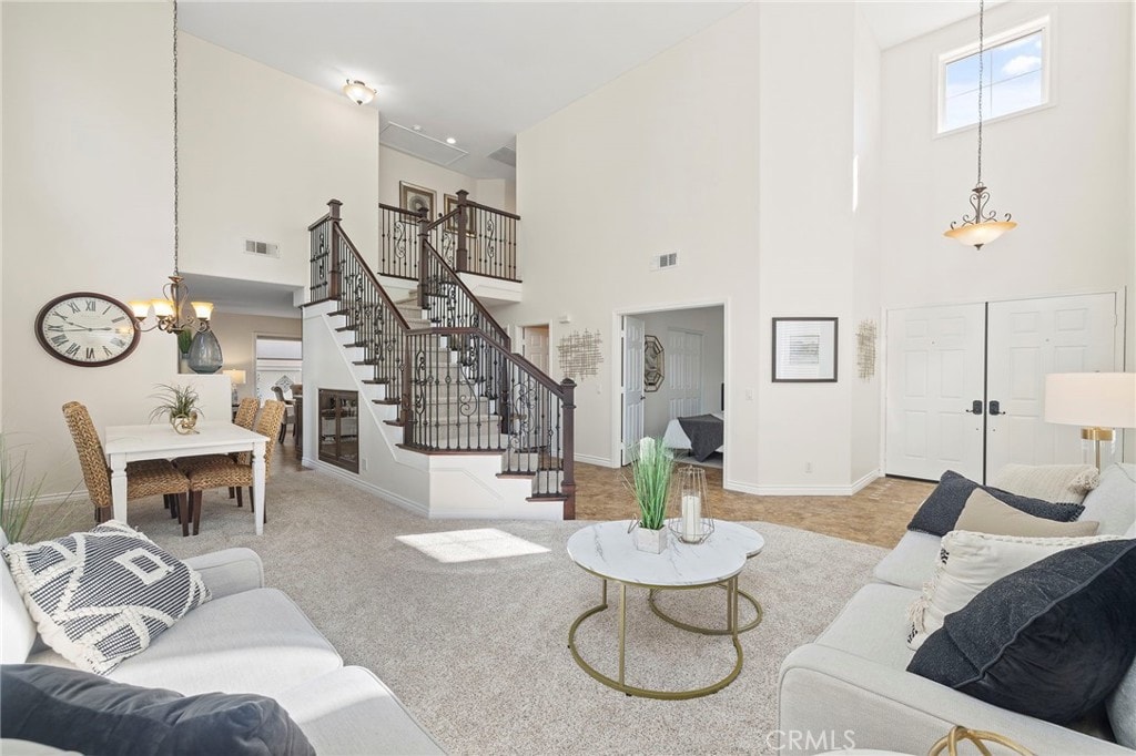
<path id="1" fill-rule="evenodd" d="M 684 544 L 669 535 L 669 544 L 662 554 L 650 554 L 635 548 L 628 534 L 626 520 L 602 522 L 582 528 L 568 539 L 568 555 L 580 569 L 602 581 L 602 597 L 598 606 L 580 614 L 568 630 L 568 648 L 576 663 L 603 684 L 629 696 L 645 698 L 686 699 L 717 692 L 733 682 L 742 671 L 743 653 L 738 632 L 744 632 L 761 622 L 761 605 L 749 594 L 738 590 L 737 576 L 746 560 L 761 552 L 765 539 L 753 529 L 735 522 L 716 521 L 715 531 L 702 544 Z M 608 581 L 619 583 L 619 667 L 617 677 L 603 674 L 587 663 L 576 647 L 576 630 L 590 616 L 608 608 Z M 703 635 L 729 636 L 736 661 L 726 677 L 715 683 L 693 690 L 653 690 L 628 684 L 626 680 L 625 652 L 627 647 L 627 587 L 646 588 L 651 610 L 673 625 Z M 668 616 L 655 604 L 660 591 L 688 590 L 694 588 L 720 587 L 726 591 L 725 629 L 704 628 L 679 622 Z M 747 600 L 757 612 L 753 621 L 738 627 L 737 607 L 740 597 Z"/>

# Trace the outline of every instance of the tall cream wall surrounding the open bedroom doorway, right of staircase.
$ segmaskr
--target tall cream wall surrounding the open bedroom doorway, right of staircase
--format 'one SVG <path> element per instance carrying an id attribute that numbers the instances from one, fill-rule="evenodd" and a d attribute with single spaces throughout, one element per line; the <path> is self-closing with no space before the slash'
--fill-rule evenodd
<path id="1" fill-rule="evenodd" d="M 726 303 L 727 477 L 757 482 L 758 40 L 745 7 L 518 136 L 525 302 L 499 320 L 602 338 L 599 375 L 576 390 L 576 451 L 618 464 L 619 317 Z M 682 107 L 676 107 L 680 102 Z M 679 266 L 649 271 L 649 257 Z M 559 322 L 562 313 L 570 324 Z M 742 378 L 745 377 L 745 378 Z M 732 460 L 736 460 L 736 464 Z M 733 472 L 736 469 L 736 472 Z"/>

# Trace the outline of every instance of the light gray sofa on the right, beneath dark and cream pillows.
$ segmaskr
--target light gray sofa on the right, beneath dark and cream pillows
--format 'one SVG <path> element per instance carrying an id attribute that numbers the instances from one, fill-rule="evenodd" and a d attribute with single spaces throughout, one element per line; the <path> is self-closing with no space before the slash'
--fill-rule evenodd
<path id="1" fill-rule="evenodd" d="M 1134 478 L 1136 465 L 1108 468 L 1085 497 L 1081 519 L 1100 521 L 1100 535 L 1136 537 Z M 961 724 L 997 732 L 1035 754 L 1136 754 L 907 672 L 914 655 L 905 642 L 907 610 L 934 572 L 939 540 L 920 532 L 904 535 L 876 566 L 876 582 L 861 588 L 816 641 L 785 658 L 779 753 L 824 751 L 834 740 L 846 745 L 850 739 L 857 748 L 926 754 Z"/>

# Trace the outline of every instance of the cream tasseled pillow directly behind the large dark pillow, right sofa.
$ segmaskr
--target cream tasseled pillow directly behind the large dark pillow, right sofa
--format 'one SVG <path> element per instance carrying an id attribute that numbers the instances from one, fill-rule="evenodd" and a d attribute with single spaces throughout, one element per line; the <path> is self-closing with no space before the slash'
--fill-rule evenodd
<path id="1" fill-rule="evenodd" d="M 908 646 L 918 649 L 947 614 L 1008 574 L 1067 548 L 1106 540 L 1117 537 L 1022 538 L 952 530 L 943 537 L 935 574 L 908 610 Z"/>

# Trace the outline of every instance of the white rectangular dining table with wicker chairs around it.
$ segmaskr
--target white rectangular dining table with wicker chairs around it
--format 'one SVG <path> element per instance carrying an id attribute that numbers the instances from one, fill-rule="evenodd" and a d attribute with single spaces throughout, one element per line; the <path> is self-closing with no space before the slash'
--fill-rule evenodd
<path id="1" fill-rule="evenodd" d="M 265 444 L 258 432 L 232 422 L 198 422 L 198 432 L 179 434 L 168 422 L 148 426 L 108 426 L 102 448 L 110 465 L 110 498 L 115 519 L 126 522 L 126 463 L 173 460 L 199 454 L 252 452 L 252 502 L 257 535 L 265 531 Z M 275 442 L 275 439 L 273 439 Z"/>

